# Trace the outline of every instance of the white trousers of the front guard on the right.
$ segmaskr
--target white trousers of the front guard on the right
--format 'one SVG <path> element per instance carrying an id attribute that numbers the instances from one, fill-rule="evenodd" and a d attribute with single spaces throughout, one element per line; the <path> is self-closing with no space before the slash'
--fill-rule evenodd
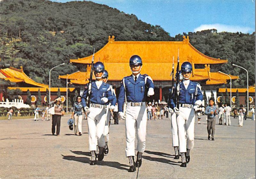
<path id="1" fill-rule="evenodd" d="M 195 110 L 193 108 L 180 107 L 180 114 L 177 116 L 179 151 L 187 152 L 194 147 Z"/>

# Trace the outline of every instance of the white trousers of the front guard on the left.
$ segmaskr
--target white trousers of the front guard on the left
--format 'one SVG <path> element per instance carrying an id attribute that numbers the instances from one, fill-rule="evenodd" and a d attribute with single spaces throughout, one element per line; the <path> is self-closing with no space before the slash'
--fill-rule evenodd
<path id="1" fill-rule="evenodd" d="M 87 113 L 88 133 L 89 133 L 89 151 L 95 151 L 97 140 L 100 147 L 105 146 L 104 127 L 106 123 L 105 108 L 90 107 L 90 112 Z"/>

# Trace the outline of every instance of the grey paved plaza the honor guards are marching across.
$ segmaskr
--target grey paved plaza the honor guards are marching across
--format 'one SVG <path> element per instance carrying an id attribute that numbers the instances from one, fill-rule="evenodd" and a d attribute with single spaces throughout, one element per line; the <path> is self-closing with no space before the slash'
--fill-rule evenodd
<path id="1" fill-rule="evenodd" d="M 233 117 L 231 126 L 216 125 L 215 141 L 211 141 L 207 140 L 203 116 L 201 124 L 195 124 L 195 146 L 187 168 L 180 167 L 181 159 L 173 159 L 170 120 L 148 121 L 142 166 L 128 173 L 124 120 L 110 125 L 109 153 L 90 166 L 87 121 L 83 120 L 83 135 L 75 136 L 67 125 L 69 117 L 61 119 L 60 136 L 52 136 L 52 120 L 0 121 L 0 178 L 255 178 L 255 121 L 251 119 L 244 121 L 243 127 L 238 127 L 238 119 Z"/>

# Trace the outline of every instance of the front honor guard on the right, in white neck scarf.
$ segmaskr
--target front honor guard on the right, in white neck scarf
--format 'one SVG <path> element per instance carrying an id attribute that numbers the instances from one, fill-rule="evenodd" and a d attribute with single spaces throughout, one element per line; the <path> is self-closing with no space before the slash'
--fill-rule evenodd
<path id="1" fill-rule="evenodd" d="M 189 80 L 191 72 L 191 63 L 182 63 L 181 73 L 183 79 L 180 82 L 179 89 L 179 109 L 176 107 L 176 88 L 175 92 L 172 93 L 172 98 L 169 99 L 171 100 L 171 108 L 177 115 L 179 152 L 182 160 L 180 167 L 187 167 L 187 163 L 190 161 L 190 150 L 194 147 L 195 109 L 202 104 L 203 100 L 201 86 Z"/>

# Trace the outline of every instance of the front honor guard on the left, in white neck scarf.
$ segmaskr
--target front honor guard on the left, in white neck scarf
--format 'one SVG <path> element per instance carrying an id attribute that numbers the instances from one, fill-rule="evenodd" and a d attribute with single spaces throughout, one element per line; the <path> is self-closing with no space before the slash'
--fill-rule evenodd
<path id="1" fill-rule="evenodd" d="M 88 123 L 88 133 L 89 133 L 89 151 L 91 151 L 92 160 L 90 165 L 96 165 L 96 145 L 98 140 L 99 145 L 99 155 L 98 160 L 103 160 L 104 153 L 103 148 L 105 146 L 104 139 L 104 128 L 107 116 L 107 105 L 109 101 L 114 99 L 110 85 L 103 83 L 102 76 L 104 71 L 104 64 L 101 62 L 96 62 L 93 65 L 94 75 L 96 81 L 92 82 L 91 94 L 90 94 L 90 108 L 86 106 L 86 98 L 89 85 L 85 86 L 85 90 L 82 96 L 82 105 L 85 112 L 87 112 L 87 123 Z"/>

